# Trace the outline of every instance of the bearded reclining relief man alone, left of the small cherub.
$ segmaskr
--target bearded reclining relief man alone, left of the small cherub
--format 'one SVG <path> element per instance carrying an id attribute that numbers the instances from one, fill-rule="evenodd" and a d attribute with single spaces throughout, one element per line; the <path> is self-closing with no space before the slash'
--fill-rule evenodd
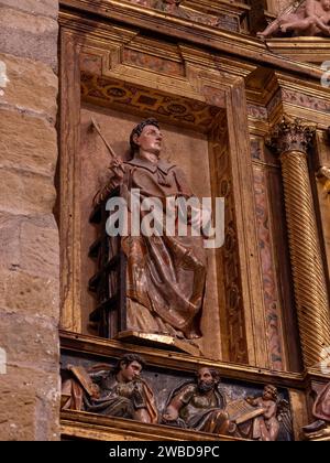
<path id="1" fill-rule="evenodd" d="M 219 390 L 217 369 L 201 367 L 194 383 L 175 389 L 168 400 L 163 423 L 215 434 L 227 434 L 232 423 L 226 409 L 226 397 Z"/>

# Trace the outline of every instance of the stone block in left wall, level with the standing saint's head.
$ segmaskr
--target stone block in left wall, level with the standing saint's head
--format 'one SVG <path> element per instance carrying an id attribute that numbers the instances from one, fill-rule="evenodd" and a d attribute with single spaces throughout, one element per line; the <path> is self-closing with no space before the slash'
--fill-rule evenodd
<path id="1" fill-rule="evenodd" d="M 11 110 L 0 111 L 0 166 L 53 177 L 56 160 L 56 130 L 48 122 Z"/>

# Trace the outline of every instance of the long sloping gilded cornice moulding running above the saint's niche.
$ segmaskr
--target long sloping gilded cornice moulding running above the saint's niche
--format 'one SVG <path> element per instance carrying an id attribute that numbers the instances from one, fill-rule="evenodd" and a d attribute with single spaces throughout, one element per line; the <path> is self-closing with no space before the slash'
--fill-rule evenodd
<path id="1" fill-rule="evenodd" d="M 297 72 L 314 79 L 321 78 L 323 72 L 307 63 L 283 58 L 267 51 L 260 40 L 246 34 L 220 30 L 207 24 L 200 24 L 185 18 L 178 18 L 166 12 L 153 10 L 140 4 L 121 0 L 61 0 L 61 7 L 74 8 L 82 14 L 98 14 L 105 20 L 114 20 L 134 28 L 147 29 L 155 33 L 163 33 L 176 40 L 205 45 L 215 51 L 239 56 L 241 60 L 253 60 L 255 63 L 267 63 L 278 69 Z M 67 10 L 68 11 L 68 10 Z M 73 17 L 76 13 L 70 13 Z"/>

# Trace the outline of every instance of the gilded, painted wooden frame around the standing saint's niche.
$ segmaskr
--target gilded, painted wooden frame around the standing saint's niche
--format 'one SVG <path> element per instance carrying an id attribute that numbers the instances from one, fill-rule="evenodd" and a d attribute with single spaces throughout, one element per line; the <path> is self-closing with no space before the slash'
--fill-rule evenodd
<path id="1" fill-rule="evenodd" d="M 213 284 L 213 291 L 209 292 L 218 293 L 220 301 L 210 295 L 213 299 L 207 306 L 206 313 L 209 313 L 205 323 L 208 330 L 213 326 L 213 333 L 210 335 L 217 348 L 212 347 L 211 351 L 217 352 L 216 356 L 220 355 L 221 343 L 223 343 L 229 346 L 226 347 L 228 359 L 248 363 L 246 325 L 252 324 L 252 311 L 246 310 L 246 306 L 251 304 L 250 295 L 244 302 L 243 293 L 251 294 L 252 287 L 249 289 L 249 284 L 253 277 L 249 278 L 249 274 L 253 274 L 253 269 L 251 259 L 246 256 L 246 246 L 249 243 L 250 247 L 256 247 L 256 243 L 253 236 L 250 240 L 248 239 L 249 229 L 246 229 L 248 211 L 249 207 L 251 211 L 253 208 L 252 195 L 242 195 L 239 180 L 240 175 L 243 176 L 245 172 L 249 172 L 251 162 L 248 131 L 245 138 L 242 137 L 242 128 L 248 129 L 244 123 L 246 109 L 243 105 L 243 78 L 227 73 L 226 61 L 222 65 L 212 56 L 207 60 L 207 54 L 186 45 L 162 44 L 162 42 L 144 39 L 135 31 L 108 24 L 105 24 L 105 36 L 101 40 L 99 28 L 97 33 L 95 31 L 96 24 L 81 18 L 73 21 L 68 13 L 62 14 L 61 22 L 63 24 L 62 88 L 64 91 L 62 110 L 65 115 L 64 132 L 67 132 L 63 144 L 62 163 L 65 177 L 62 177 L 61 201 L 67 211 L 67 214 L 63 216 L 66 224 L 63 223 L 62 226 L 68 234 L 66 236 L 68 246 L 64 249 L 63 262 L 65 268 L 69 269 L 65 272 L 69 280 L 63 282 L 63 327 L 86 332 L 88 316 L 85 315 L 84 320 L 84 311 L 86 314 L 88 311 L 91 312 L 90 308 L 94 309 L 92 305 L 81 306 L 81 301 L 84 301 L 81 293 L 86 292 L 81 280 L 85 274 L 81 274 L 87 271 L 84 270 L 86 261 L 81 261 L 80 246 L 84 239 L 84 222 L 88 222 L 89 216 L 85 214 L 87 211 L 91 212 L 92 197 L 86 195 L 89 204 L 85 205 L 81 212 L 79 203 L 81 203 L 81 195 L 85 197 L 84 190 L 87 189 L 89 172 L 84 174 L 80 171 L 84 165 L 81 164 L 82 157 L 79 155 L 79 143 L 81 137 L 89 137 L 94 142 L 96 138 L 87 133 L 89 120 L 84 119 L 84 112 L 80 119 L 80 105 L 82 105 L 82 111 L 84 105 L 88 104 L 94 105 L 94 108 L 100 108 L 101 111 L 106 107 L 133 116 L 156 116 L 167 125 L 179 125 L 187 130 L 187 133 L 194 131 L 195 140 L 202 140 L 207 158 L 204 160 L 199 155 L 199 162 L 206 165 L 201 165 L 201 169 L 208 169 L 213 175 L 210 179 L 209 172 L 205 174 L 206 180 L 209 179 L 209 185 L 205 192 L 199 187 L 200 196 L 209 192 L 213 196 L 226 195 L 227 197 L 227 250 L 218 252 L 213 263 L 213 267 L 219 269 L 227 265 L 226 280 L 219 274 L 216 277 L 217 281 L 209 283 Z M 67 29 L 68 25 L 69 29 Z M 74 29 L 72 29 L 73 25 Z M 136 63 L 140 63 L 139 60 L 140 67 L 136 66 Z M 243 75 L 246 72 L 245 68 L 240 69 Z M 82 136 L 81 128 L 85 131 Z M 107 130 L 105 123 L 103 128 Z M 117 148 L 119 141 L 113 140 L 113 136 L 112 142 Z M 232 147 L 231 153 L 229 153 L 229 144 Z M 95 148 L 92 147 L 91 150 Z M 100 149 L 99 146 L 97 149 Z M 92 151 L 89 155 L 96 157 L 96 152 Z M 219 164 L 216 165 L 216 163 L 220 162 L 221 157 L 223 166 L 220 171 Z M 232 157 L 237 158 L 234 162 Z M 103 159 L 100 160 L 101 162 L 107 162 L 106 165 L 108 165 L 109 161 Z M 101 172 L 106 165 L 99 168 Z M 233 175 L 232 170 L 239 170 L 241 174 Z M 216 175 L 217 171 L 218 175 Z M 200 175 L 200 169 L 198 175 Z M 196 179 L 195 182 L 197 183 Z M 244 187 L 249 187 L 249 182 L 245 182 Z M 74 189 L 74 191 L 64 189 Z M 248 208 L 244 203 L 248 205 L 250 203 Z M 91 243 L 92 239 L 88 246 Z M 94 273 L 90 271 L 89 279 Z M 223 313 L 219 311 L 219 306 Z M 220 340 L 220 317 L 223 321 L 222 331 L 226 342 Z M 218 325 L 215 320 L 218 320 Z M 234 342 L 231 343 L 231 340 Z M 205 348 L 207 347 L 202 351 Z M 255 355 L 253 351 L 254 348 L 251 351 L 252 356 Z"/>

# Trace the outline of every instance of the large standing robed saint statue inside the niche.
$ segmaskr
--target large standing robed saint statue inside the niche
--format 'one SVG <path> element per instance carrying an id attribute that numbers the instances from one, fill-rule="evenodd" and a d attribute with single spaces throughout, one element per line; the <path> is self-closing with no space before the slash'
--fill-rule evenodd
<path id="1" fill-rule="evenodd" d="M 114 159 L 110 166 L 112 176 L 97 194 L 96 204 L 120 186 L 121 196 L 130 205 L 131 193 L 133 189 L 138 190 L 140 219 L 143 220 L 147 215 L 142 207 L 145 198 L 157 200 L 165 217 L 168 198 L 195 197 L 183 171 L 160 158 L 162 140 L 163 133 L 155 119 L 139 123 L 130 138 L 133 158 L 128 162 Z M 177 225 L 179 214 L 175 214 Z M 130 207 L 128 216 L 130 225 Z M 195 218 L 194 214 L 188 218 L 187 236 L 177 233 L 172 236 L 166 229 L 161 236 L 143 233 L 134 236 L 129 229 L 128 236 L 121 238 L 128 262 L 128 331 L 167 334 L 184 341 L 201 336 L 199 321 L 205 300 L 207 259 L 204 237 L 201 234 L 191 235 Z"/>

